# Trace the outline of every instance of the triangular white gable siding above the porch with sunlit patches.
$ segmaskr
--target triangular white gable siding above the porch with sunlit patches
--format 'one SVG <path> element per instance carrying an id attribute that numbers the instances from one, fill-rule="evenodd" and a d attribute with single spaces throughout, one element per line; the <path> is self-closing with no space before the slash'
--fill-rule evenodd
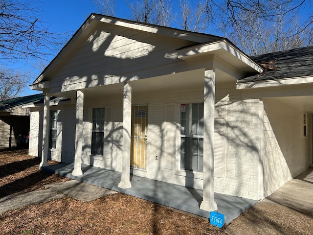
<path id="1" fill-rule="evenodd" d="M 110 84 L 120 82 L 120 74 L 130 79 L 130 72 L 179 62 L 176 49 L 190 44 L 130 29 L 100 28 L 68 58 L 50 87 L 60 89 L 78 82 L 87 82 L 86 86 Z"/>

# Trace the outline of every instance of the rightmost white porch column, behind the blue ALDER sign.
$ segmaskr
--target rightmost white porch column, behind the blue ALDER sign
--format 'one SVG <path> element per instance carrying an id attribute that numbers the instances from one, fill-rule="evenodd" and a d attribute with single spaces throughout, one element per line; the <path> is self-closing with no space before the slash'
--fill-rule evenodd
<path id="1" fill-rule="evenodd" d="M 215 69 L 204 72 L 204 132 L 203 132 L 203 201 L 200 209 L 216 211 L 214 201 L 214 103 Z"/>

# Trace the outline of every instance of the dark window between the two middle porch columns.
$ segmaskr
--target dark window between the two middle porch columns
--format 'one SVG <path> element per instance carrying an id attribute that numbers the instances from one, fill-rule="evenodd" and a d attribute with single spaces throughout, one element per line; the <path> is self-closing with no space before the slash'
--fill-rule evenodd
<path id="1" fill-rule="evenodd" d="M 92 109 L 91 154 L 103 155 L 104 108 Z"/>

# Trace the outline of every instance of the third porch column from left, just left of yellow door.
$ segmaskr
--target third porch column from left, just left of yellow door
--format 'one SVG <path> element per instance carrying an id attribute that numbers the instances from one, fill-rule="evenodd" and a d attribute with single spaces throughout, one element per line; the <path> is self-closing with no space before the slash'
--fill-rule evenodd
<path id="1" fill-rule="evenodd" d="M 132 87 L 124 83 L 123 93 L 123 155 L 122 177 L 119 188 L 132 188 L 130 181 L 131 165 L 131 130 L 132 130 Z"/>

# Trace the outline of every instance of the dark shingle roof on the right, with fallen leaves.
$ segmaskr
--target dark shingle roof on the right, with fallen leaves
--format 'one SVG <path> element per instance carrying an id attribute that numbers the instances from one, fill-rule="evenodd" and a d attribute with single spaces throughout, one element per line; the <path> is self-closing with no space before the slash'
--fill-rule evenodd
<path id="1" fill-rule="evenodd" d="M 248 76 L 238 83 L 313 76 L 313 47 L 302 47 L 251 57 L 265 70 Z"/>

